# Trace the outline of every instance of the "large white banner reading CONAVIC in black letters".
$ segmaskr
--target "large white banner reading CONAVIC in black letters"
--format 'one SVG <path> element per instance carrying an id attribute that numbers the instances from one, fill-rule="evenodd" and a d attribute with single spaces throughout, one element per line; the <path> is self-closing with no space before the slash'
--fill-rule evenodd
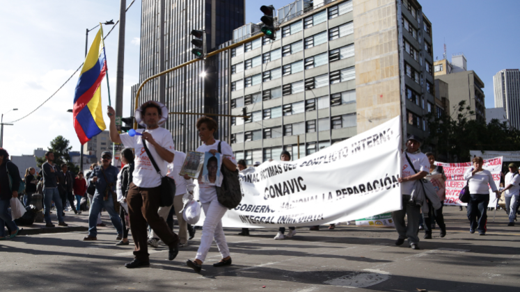
<path id="1" fill-rule="evenodd" d="M 322 225 L 401 209 L 400 131 L 395 117 L 303 159 L 249 168 L 241 173 L 242 202 L 223 226 Z"/>

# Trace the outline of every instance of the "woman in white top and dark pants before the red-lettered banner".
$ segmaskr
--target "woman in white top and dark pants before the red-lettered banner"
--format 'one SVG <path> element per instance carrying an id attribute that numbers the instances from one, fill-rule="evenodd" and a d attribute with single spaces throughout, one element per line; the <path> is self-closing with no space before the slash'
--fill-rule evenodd
<path id="1" fill-rule="evenodd" d="M 496 188 L 493 175 L 489 170 L 482 169 L 484 160 L 480 156 L 473 158 L 473 168 L 464 173 L 464 180 L 468 181 L 470 200 L 468 202 L 469 233 L 486 235 L 487 205 L 489 204 L 489 188 L 494 191 L 497 199 L 501 197 Z"/>

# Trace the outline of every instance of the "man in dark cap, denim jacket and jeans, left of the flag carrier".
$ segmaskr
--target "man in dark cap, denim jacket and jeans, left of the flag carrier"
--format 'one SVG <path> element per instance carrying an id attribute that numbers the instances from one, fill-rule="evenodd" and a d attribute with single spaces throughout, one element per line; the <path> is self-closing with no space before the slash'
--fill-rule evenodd
<path id="1" fill-rule="evenodd" d="M 101 154 L 101 166 L 94 168 L 88 181 L 88 184 L 95 185 L 95 193 L 88 214 L 88 236 L 83 238 L 84 241 L 97 241 L 97 215 L 103 208 L 109 213 L 112 225 L 116 228 L 116 240 L 123 238 L 123 227 L 114 204 L 117 180 L 118 168 L 112 165 L 112 153 L 104 151 Z"/>

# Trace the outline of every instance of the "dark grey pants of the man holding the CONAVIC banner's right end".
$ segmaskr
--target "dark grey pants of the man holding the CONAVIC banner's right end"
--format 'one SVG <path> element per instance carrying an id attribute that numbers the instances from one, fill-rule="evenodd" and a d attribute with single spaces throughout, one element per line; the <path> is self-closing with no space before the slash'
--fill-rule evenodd
<path id="1" fill-rule="evenodd" d="M 411 195 L 402 195 L 402 209 L 392 212 L 392 219 L 395 224 L 395 229 L 399 234 L 399 238 L 408 238 L 408 243 L 417 244 L 419 237 L 419 218 L 420 206 L 415 202 L 410 202 Z M 408 218 L 408 226 L 404 223 L 404 216 Z"/>

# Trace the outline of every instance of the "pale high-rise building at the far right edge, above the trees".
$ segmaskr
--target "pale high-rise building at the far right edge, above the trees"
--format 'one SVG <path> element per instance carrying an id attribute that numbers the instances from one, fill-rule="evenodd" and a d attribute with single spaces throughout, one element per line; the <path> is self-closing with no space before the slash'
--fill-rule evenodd
<path id="1" fill-rule="evenodd" d="M 520 71 L 505 69 L 493 77 L 495 108 L 503 108 L 511 127 L 520 129 Z"/>

